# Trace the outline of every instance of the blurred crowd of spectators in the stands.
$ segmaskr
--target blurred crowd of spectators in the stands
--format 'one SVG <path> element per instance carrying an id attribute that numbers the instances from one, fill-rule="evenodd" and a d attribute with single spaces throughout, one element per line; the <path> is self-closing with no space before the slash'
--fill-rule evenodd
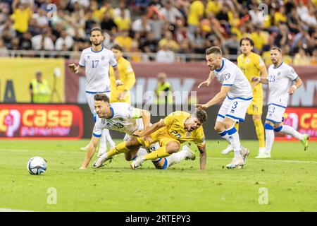
<path id="1" fill-rule="evenodd" d="M 1 0 L 0 55 L 8 50 L 80 52 L 89 31 L 104 31 L 104 46 L 120 44 L 132 61 L 173 62 L 175 54 L 221 47 L 240 54 L 240 38 L 268 64 L 282 48 L 290 64 L 317 64 L 317 0 Z M 155 53 L 155 54 L 138 54 Z M 191 60 L 190 57 L 187 60 Z"/>

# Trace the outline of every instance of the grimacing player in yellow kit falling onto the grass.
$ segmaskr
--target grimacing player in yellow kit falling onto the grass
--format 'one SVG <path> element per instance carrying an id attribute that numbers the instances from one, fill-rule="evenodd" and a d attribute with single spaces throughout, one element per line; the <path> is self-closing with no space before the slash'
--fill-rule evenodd
<path id="1" fill-rule="evenodd" d="M 203 124 L 207 120 L 207 114 L 202 109 L 197 109 L 193 114 L 187 112 L 173 112 L 163 120 L 156 122 L 144 129 L 143 132 L 135 131 L 130 141 L 124 141 L 113 148 L 108 153 L 101 155 L 94 162 L 93 167 L 100 167 L 114 155 L 127 153 L 140 146 L 149 147 L 151 144 L 159 142 L 160 148 L 153 152 L 142 155 L 131 162 L 132 169 L 139 167 L 142 162 L 147 160 L 155 160 L 157 158 L 169 157 L 178 155 L 180 144 L 186 141 L 194 142 L 200 152 L 200 169 L 206 167 L 206 145 Z"/>

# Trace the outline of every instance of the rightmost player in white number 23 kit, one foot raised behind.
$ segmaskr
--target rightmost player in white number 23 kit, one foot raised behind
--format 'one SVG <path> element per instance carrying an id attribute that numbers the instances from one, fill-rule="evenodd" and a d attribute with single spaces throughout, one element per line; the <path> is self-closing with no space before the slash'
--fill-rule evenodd
<path id="1" fill-rule="evenodd" d="M 254 77 L 252 81 L 268 84 L 268 114 L 264 127 L 266 129 L 266 151 L 259 154 L 258 158 L 271 157 L 274 142 L 274 131 L 285 133 L 302 141 L 304 150 L 308 148 L 309 136 L 293 129 L 291 126 L 282 125 L 283 114 L 287 107 L 288 98 L 302 85 L 302 80 L 292 66 L 282 62 L 282 50 L 278 47 L 271 49 L 273 65 L 268 68 L 268 77 Z M 292 84 L 294 83 L 294 84 Z"/>

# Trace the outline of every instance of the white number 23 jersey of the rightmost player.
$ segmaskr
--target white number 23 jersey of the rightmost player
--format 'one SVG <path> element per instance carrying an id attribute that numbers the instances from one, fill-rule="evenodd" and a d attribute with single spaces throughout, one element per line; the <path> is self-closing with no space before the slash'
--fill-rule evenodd
<path id="1" fill-rule="evenodd" d="M 292 66 L 281 63 L 276 68 L 271 65 L 268 67 L 268 105 L 275 104 L 287 107 L 288 90 L 293 81 L 298 78 Z"/>

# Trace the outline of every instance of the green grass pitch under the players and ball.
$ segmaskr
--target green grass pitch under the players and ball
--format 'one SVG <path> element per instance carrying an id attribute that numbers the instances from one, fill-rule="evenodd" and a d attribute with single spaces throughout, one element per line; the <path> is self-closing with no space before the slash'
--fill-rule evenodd
<path id="1" fill-rule="evenodd" d="M 243 169 L 223 168 L 232 153 L 221 155 L 226 143 L 208 141 L 205 171 L 199 157 L 167 170 L 151 162 L 132 170 L 123 155 L 82 171 L 79 148 L 87 142 L 1 141 L 0 211 L 317 211 L 316 142 L 307 151 L 299 142 L 275 142 L 270 160 L 256 160 L 258 143 L 242 141 L 251 149 Z M 27 172 L 33 156 L 48 162 L 41 176 Z M 47 202 L 49 188 L 56 204 Z"/>

